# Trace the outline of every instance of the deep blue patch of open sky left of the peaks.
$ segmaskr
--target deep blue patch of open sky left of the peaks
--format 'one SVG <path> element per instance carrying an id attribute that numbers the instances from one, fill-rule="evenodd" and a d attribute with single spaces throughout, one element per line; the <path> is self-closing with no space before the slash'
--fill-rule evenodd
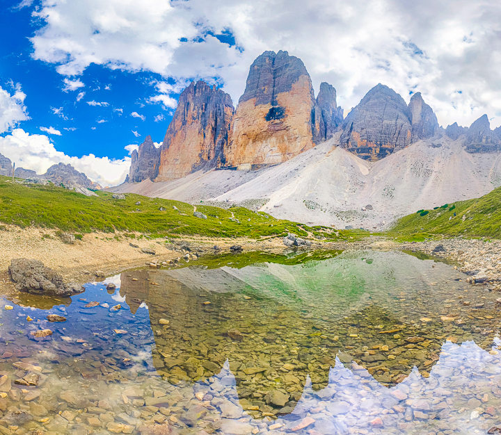
<path id="1" fill-rule="evenodd" d="M 165 81 L 160 74 L 90 65 L 80 76 L 67 79 L 56 72 L 57 65 L 32 58 L 29 37 L 40 28 L 40 20 L 31 17 L 32 8 L 15 8 L 18 4 L 18 0 L 1 3 L 6 19 L 0 26 L 0 85 L 8 90 L 12 82 L 19 83 L 26 94 L 24 104 L 31 119 L 22 123 L 24 131 L 35 134 L 42 133 L 40 126 L 53 127 L 61 133 L 49 135 L 58 151 L 77 157 L 91 152 L 122 158 L 126 145 L 140 144 L 145 136 L 151 135 L 155 142 L 164 139 L 173 108 L 149 101 L 158 93 L 155 83 Z M 64 79 L 81 85 L 65 90 Z M 101 105 L 91 106 L 94 102 Z"/>

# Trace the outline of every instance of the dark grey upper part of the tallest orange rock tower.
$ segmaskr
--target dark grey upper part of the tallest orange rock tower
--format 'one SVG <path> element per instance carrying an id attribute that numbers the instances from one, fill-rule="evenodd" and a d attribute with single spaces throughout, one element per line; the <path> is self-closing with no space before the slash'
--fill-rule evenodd
<path id="1" fill-rule="evenodd" d="M 264 51 L 250 65 L 246 90 L 240 97 L 239 104 L 255 98 L 256 106 L 278 106 L 276 95 L 289 92 L 303 74 L 308 74 L 308 71 L 301 59 L 289 56 L 287 51 Z"/>

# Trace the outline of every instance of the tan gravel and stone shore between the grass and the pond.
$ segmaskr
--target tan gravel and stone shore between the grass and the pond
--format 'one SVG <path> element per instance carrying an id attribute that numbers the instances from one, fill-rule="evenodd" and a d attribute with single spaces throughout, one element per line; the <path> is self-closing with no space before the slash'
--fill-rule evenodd
<path id="1" fill-rule="evenodd" d="M 64 236 L 64 234 L 63 234 Z M 300 246 L 283 238 L 202 238 L 152 239 L 138 233 L 86 234 L 83 240 L 65 243 L 61 234 L 48 229 L 19 229 L 8 226 L 0 230 L 0 293 L 11 295 L 15 287 L 8 276 L 13 258 L 42 261 L 61 274 L 65 281 L 85 284 L 124 270 L 148 265 L 182 265 L 211 254 L 266 252 L 287 254 L 315 250 L 399 249 L 443 258 L 468 275 L 467 281 L 489 284 L 501 290 L 501 240 L 450 238 L 425 242 L 397 243 L 382 236 L 370 236 L 351 242 L 308 240 Z M 301 240 L 301 239 L 298 239 Z M 290 240 L 286 240 L 290 242 Z"/>

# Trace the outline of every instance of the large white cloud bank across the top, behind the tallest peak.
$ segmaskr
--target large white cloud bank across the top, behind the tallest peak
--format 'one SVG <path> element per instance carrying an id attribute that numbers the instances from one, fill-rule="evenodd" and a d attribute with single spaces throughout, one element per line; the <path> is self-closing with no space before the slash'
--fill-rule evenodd
<path id="1" fill-rule="evenodd" d="M 78 76 L 91 64 L 180 83 L 223 83 L 236 103 L 253 60 L 284 49 L 346 111 L 377 83 L 420 91 L 440 123 L 501 124 L 501 8 L 495 0 L 45 0 L 33 57 Z M 301 11 L 301 13 L 298 13 Z M 235 44 L 216 35 L 230 33 Z M 221 38 L 221 37 L 220 37 Z M 459 92 L 461 91 L 461 92 Z M 171 92 L 150 102 L 175 107 Z"/>

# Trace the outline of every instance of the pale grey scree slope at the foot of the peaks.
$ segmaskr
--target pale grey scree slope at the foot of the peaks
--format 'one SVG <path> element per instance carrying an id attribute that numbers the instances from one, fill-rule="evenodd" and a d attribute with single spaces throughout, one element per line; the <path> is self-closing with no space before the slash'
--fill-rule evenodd
<path id="1" fill-rule="evenodd" d="M 380 231 L 421 208 L 481 197 L 501 186 L 501 154 L 468 154 L 462 141 L 436 136 L 369 163 L 335 147 L 336 136 L 264 170 L 199 171 L 164 183 L 124 184 L 113 191 L 193 204 L 259 199 L 255 204 L 267 202 L 260 209 L 278 218 Z"/>

